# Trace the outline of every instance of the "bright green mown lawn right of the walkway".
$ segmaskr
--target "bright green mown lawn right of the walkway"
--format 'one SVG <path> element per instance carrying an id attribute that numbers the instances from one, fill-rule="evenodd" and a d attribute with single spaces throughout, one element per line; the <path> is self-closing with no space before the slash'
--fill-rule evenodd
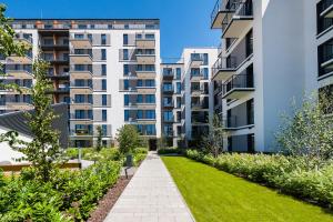
<path id="1" fill-rule="evenodd" d="M 162 159 L 198 222 L 333 221 L 332 212 L 209 165 Z"/>

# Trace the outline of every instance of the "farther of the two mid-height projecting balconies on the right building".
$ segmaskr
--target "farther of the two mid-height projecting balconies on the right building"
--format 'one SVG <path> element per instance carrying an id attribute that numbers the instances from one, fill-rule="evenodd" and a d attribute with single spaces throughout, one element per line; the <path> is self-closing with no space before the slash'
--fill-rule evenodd
<path id="1" fill-rule="evenodd" d="M 236 71 L 236 58 L 228 57 L 228 58 L 219 58 L 216 62 L 212 67 L 213 80 L 226 80 L 235 74 Z"/>

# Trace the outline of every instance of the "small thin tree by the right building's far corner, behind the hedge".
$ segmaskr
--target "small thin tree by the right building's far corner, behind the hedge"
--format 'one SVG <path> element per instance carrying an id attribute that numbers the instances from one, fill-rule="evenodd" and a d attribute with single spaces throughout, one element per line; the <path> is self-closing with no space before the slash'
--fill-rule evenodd
<path id="1" fill-rule="evenodd" d="M 202 137 L 203 150 L 216 158 L 223 151 L 223 138 L 225 135 L 226 131 L 215 114 L 210 123 L 210 131 Z"/>

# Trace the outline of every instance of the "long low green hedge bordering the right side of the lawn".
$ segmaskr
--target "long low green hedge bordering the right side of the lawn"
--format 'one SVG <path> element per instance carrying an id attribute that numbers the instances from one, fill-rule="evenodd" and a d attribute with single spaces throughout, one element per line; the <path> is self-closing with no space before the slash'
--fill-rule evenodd
<path id="1" fill-rule="evenodd" d="M 196 150 L 188 150 L 192 160 L 219 170 L 265 184 L 286 194 L 333 209 L 333 164 L 327 162 L 320 170 L 309 168 L 304 159 L 281 154 L 221 154 L 213 158 Z"/>

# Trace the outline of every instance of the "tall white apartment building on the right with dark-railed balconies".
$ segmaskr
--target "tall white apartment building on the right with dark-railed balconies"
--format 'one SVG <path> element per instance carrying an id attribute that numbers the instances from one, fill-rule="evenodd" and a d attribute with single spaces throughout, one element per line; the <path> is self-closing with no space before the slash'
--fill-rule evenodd
<path id="1" fill-rule="evenodd" d="M 212 67 L 214 107 L 229 151 L 273 152 L 292 98 L 332 93 L 332 0 L 218 0 L 211 28 L 222 30 Z"/>

